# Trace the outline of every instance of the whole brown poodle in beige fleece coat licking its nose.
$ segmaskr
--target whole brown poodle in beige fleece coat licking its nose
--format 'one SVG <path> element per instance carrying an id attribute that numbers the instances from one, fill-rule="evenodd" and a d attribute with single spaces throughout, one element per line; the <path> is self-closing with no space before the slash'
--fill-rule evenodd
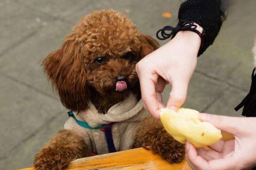
<path id="1" fill-rule="evenodd" d="M 184 157 L 159 120 L 143 109 L 136 63 L 159 47 L 124 14 L 95 11 L 82 17 L 44 71 L 70 118 L 36 154 L 37 170 L 62 170 L 70 161 L 150 146 L 171 163 Z"/>

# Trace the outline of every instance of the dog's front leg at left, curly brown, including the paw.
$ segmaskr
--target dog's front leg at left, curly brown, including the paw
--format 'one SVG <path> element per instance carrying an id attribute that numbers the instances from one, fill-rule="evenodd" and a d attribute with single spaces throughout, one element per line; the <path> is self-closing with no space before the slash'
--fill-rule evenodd
<path id="1" fill-rule="evenodd" d="M 87 156 L 84 139 L 73 130 L 61 130 L 35 155 L 36 170 L 63 170 L 67 164 Z"/>

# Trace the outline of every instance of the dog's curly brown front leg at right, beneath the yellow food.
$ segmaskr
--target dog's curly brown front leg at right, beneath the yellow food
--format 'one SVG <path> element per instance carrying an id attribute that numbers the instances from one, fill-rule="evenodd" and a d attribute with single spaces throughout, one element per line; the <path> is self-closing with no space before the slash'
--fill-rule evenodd
<path id="1" fill-rule="evenodd" d="M 185 156 L 184 144 L 175 141 L 159 120 L 146 119 L 140 124 L 133 147 L 146 146 L 171 163 L 180 162 Z"/>

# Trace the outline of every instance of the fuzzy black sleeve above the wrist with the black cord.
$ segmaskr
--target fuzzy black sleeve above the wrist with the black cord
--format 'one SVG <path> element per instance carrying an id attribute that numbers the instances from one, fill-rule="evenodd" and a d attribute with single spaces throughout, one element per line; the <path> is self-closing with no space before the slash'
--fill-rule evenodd
<path id="1" fill-rule="evenodd" d="M 178 19 L 194 21 L 204 29 L 198 56 L 212 45 L 221 28 L 223 17 L 221 0 L 186 0 L 181 4 Z"/>

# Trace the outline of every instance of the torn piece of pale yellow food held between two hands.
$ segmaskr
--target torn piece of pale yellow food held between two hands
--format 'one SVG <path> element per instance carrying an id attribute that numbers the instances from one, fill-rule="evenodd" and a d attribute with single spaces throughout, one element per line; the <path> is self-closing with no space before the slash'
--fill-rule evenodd
<path id="1" fill-rule="evenodd" d="M 180 143 L 189 141 L 195 147 L 214 144 L 221 139 L 221 130 L 208 122 L 202 122 L 199 114 L 193 109 L 180 108 L 176 112 L 163 108 L 160 119 L 166 131 Z"/>

